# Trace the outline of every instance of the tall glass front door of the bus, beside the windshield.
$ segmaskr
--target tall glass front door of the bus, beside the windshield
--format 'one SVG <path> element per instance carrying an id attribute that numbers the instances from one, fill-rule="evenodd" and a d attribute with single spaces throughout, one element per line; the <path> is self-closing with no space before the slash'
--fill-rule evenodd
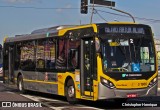
<path id="1" fill-rule="evenodd" d="M 93 75 L 95 64 L 93 38 L 81 40 L 81 94 L 93 97 Z"/>

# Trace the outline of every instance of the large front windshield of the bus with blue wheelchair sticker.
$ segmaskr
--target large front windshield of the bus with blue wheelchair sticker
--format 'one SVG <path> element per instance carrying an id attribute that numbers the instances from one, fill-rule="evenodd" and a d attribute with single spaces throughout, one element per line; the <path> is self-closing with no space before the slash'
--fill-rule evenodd
<path id="1" fill-rule="evenodd" d="M 153 40 L 145 37 L 107 37 L 102 40 L 104 72 L 155 71 Z"/>

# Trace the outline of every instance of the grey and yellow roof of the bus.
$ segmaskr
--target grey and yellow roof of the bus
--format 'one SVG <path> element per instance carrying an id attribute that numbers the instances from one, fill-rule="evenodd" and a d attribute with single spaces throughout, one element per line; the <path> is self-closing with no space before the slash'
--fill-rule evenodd
<path id="1" fill-rule="evenodd" d="M 108 22 L 108 23 L 97 23 L 97 24 L 86 24 L 86 25 L 60 25 L 60 26 L 54 26 L 50 28 L 34 30 L 31 32 L 31 34 L 16 35 L 15 37 L 8 37 L 8 38 L 5 38 L 4 42 L 5 43 L 18 42 L 18 41 L 25 41 L 25 40 L 41 39 L 41 38 L 46 38 L 46 37 L 63 36 L 68 30 L 87 28 L 87 27 L 92 27 L 92 26 L 94 27 L 95 25 L 103 25 L 103 24 L 142 25 L 142 24 L 137 24 L 133 22 Z"/>

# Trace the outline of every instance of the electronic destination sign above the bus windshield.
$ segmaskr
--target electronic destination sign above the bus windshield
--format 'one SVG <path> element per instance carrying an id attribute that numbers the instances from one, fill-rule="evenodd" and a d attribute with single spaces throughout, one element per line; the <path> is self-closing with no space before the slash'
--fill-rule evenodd
<path id="1" fill-rule="evenodd" d="M 113 27 L 105 27 L 105 33 L 145 34 L 145 31 L 144 28 L 142 27 L 113 26 Z"/>

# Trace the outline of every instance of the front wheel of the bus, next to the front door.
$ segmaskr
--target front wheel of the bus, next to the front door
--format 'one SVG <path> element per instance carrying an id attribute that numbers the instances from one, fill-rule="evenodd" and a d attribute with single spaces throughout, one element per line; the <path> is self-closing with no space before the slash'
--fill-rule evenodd
<path id="1" fill-rule="evenodd" d="M 67 87 L 66 87 L 66 97 L 67 97 L 67 101 L 70 104 L 76 104 L 77 103 L 77 99 L 76 99 L 76 90 L 75 90 L 75 85 L 72 79 L 70 79 L 67 82 Z"/>

